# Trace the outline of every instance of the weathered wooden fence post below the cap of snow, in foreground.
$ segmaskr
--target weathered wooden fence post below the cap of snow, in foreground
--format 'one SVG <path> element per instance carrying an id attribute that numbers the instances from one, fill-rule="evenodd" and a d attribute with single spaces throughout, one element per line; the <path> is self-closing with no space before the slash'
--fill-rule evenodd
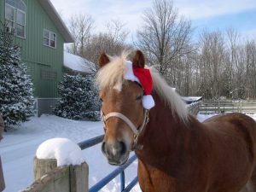
<path id="1" fill-rule="evenodd" d="M 22 192 L 88 192 L 89 168 L 86 162 L 79 166 L 60 166 L 54 159 L 34 158 L 35 182 Z"/>

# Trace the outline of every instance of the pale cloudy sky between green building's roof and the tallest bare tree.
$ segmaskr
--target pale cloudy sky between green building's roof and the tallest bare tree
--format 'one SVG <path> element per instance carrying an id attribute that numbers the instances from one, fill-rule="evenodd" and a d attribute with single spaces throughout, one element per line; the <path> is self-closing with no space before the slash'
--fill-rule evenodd
<path id="1" fill-rule="evenodd" d="M 91 15 L 95 20 L 96 31 L 106 30 L 110 20 L 120 20 L 131 33 L 137 30 L 142 22 L 143 10 L 151 6 L 150 0 L 51 0 L 61 18 L 68 23 L 72 15 Z"/>

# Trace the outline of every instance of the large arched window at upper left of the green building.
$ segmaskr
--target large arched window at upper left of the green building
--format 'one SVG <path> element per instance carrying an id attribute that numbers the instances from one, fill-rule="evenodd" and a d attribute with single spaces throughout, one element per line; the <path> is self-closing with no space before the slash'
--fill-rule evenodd
<path id="1" fill-rule="evenodd" d="M 14 30 L 17 37 L 25 38 L 26 4 L 22 0 L 5 0 L 5 20 L 8 31 Z"/>

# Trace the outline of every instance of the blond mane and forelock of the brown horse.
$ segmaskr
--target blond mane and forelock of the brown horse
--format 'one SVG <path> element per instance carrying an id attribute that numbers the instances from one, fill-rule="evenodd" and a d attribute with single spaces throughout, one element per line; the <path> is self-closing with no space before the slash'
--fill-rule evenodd
<path id="1" fill-rule="evenodd" d="M 122 84 L 127 82 L 124 79 L 124 74 L 127 70 L 125 61 L 128 55 L 129 52 L 124 51 L 120 56 L 109 57 L 110 62 L 108 65 L 105 65 L 96 73 L 96 84 L 100 90 L 106 87 L 113 87 L 117 90 L 122 89 Z M 166 83 L 166 80 L 160 76 L 160 73 L 154 67 L 146 67 L 152 75 L 154 91 L 166 103 L 166 106 L 172 110 L 172 113 L 176 113 L 177 117 L 182 119 L 183 122 L 188 121 L 189 113 L 182 98 Z"/>

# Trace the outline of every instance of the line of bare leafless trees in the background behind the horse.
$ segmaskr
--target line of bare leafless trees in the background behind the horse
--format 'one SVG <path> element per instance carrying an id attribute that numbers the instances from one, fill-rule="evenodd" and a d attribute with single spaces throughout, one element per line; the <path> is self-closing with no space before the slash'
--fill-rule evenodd
<path id="1" fill-rule="evenodd" d="M 128 31 L 119 20 L 109 21 L 106 32 L 92 33 L 93 24 L 88 15 L 73 16 L 69 26 L 75 43 L 68 50 L 84 57 L 96 72 L 97 65 L 92 63 L 97 63 L 102 52 L 119 55 L 132 48 L 125 44 Z M 183 96 L 256 98 L 255 40 L 241 41 L 233 28 L 205 30 L 195 46 L 191 31 L 190 21 L 178 15 L 172 2 L 154 0 L 144 12 L 136 46 Z"/>

